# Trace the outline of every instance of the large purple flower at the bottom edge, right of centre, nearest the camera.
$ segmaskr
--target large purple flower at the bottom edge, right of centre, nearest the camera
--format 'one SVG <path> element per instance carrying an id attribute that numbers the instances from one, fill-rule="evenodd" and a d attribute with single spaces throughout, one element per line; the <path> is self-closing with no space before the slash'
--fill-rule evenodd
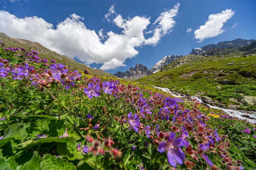
<path id="1" fill-rule="evenodd" d="M 168 133 L 168 132 L 167 132 Z M 185 154 L 180 149 L 180 146 L 184 146 L 182 138 L 175 138 L 175 133 L 170 132 L 170 136 L 166 142 L 159 143 L 158 151 L 163 153 L 167 151 L 167 160 L 170 165 L 173 167 L 177 166 L 177 163 L 182 165 Z M 176 163 L 177 162 L 177 163 Z"/>

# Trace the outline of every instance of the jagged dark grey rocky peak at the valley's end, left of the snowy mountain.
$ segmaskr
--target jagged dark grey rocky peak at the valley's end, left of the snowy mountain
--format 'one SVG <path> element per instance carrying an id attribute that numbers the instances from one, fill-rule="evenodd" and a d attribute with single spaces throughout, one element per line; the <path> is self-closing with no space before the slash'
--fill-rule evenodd
<path id="1" fill-rule="evenodd" d="M 114 75 L 125 79 L 139 79 L 150 74 L 152 74 L 152 72 L 148 70 L 147 67 L 137 63 L 135 68 L 131 67 L 128 71 L 126 70 L 125 72 L 118 71 Z"/>

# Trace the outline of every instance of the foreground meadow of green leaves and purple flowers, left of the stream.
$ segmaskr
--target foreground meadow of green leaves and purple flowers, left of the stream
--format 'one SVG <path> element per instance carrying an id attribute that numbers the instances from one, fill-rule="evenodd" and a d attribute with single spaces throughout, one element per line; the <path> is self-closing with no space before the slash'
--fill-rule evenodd
<path id="1" fill-rule="evenodd" d="M 1 169 L 255 168 L 255 125 L 30 49 L 0 55 Z"/>

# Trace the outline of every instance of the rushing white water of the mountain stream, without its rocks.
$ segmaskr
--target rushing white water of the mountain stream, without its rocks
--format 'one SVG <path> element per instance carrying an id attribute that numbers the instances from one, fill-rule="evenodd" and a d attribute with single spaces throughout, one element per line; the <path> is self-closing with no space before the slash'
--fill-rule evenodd
<path id="1" fill-rule="evenodd" d="M 154 86 L 155 88 L 158 88 L 160 90 L 163 90 L 164 92 L 166 93 L 169 93 L 170 95 L 174 96 L 174 97 L 180 97 L 180 98 L 185 98 L 185 97 L 190 97 L 190 98 L 196 98 L 197 100 L 199 100 L 200 103 L 203 103 L 201 99 L 197 98 L 196 96 L 182 96 L 180 94 L 174 94 L 172 91 L 170 91 L 168 88 L 163 88 L 163 87 L 157 87 L 157 86 Z M 250 123 L 256 123 L 256 112 L 253 112 L 253 111 L 250 111 L 250 113 L 248 113 L 247 111 L 243 111 L 243 110 L 230 110 L 230 109 L 222 109 L 222 108 L 219 108 L 217 106 L 211 106 L 210 104 L 207 104 L 210 108 L 213 108 L 213 109 L 220 109 L 220 110 L 223 110 L 225 111 L 227 114 L 229 114 L 230 116 L 233 116 L 233 117 L 237 117 L 239 119 L 244 119 L 244 120 L 247 120 L 248 122 Z M 254 117 L 255 119 L 248 119 L 246 117 L 242 117 L 241 115 L 243 114 L 247 114 L 249 115 L 250 117 Z"/>

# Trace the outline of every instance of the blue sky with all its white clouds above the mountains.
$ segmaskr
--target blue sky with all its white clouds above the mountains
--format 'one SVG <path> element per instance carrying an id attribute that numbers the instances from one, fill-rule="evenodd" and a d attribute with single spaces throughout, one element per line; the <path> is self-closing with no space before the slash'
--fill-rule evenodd
<path id="1" fill-rule="evenodd" d="M 255 39 L 256 1 L 0 1 L 0 31 L 110 73 Z"/>

